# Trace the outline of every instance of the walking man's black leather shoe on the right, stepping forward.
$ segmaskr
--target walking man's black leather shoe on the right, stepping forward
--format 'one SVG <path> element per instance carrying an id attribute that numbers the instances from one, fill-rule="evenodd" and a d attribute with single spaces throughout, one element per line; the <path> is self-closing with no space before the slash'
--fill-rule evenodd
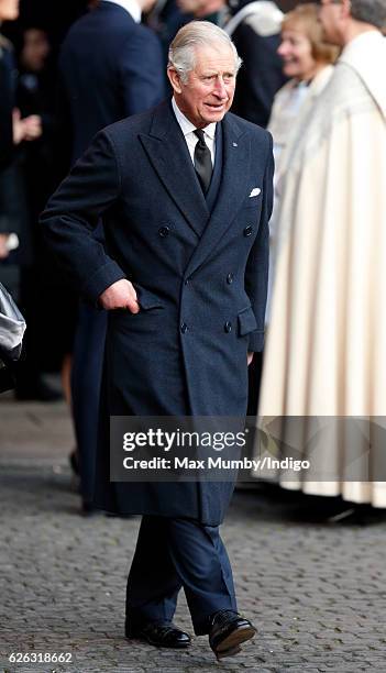
<path id="1" fill-rule="evenodd" d="M 220 610 L 211 617 L 209 644 L 217 659 L 233 657 L 241 651 L 241 643 L 256 633 L 255 627 L 233 610 Z"/>

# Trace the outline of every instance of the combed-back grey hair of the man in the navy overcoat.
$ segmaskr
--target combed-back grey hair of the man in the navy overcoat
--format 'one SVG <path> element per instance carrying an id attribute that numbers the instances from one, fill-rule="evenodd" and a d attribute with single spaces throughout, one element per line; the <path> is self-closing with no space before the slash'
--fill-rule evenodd
<path id="1" fill-rule="evenodd" d="M 225 31 L 214 25 L 214 23 L 210 23 L 210 21 L 190 21 L 190 23 L 179 29 L 169 47 L 167 67 L 175 68 L 181 81 L 186 84 L 188 73 L 195 69 L 196 47 L 214 46 L 219 43 L 231 47 L 234 55 L 235 71 L 238 73 L 242 60 L 232 40 Z"/>

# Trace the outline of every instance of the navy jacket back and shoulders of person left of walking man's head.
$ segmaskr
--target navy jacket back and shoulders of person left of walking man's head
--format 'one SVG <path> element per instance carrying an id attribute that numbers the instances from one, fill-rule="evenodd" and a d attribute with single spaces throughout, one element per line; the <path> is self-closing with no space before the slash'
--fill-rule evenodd
<path id="1" fill-rule="evenodd" d="M 71 159 L 114 121 L 165 95 L 161 44 L 122 7 L 100 2 L 69 30 L 59 57 L 59 113 L 70 119 Z"/>

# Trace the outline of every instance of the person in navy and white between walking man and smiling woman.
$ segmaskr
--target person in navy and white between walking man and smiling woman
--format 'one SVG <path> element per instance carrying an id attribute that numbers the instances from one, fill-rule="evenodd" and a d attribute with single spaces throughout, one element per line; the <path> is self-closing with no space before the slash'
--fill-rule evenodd
<path id="1" fill-rule="evenodd" d="M 243 60 L 232 111 L 265 128 L 276 91 L 283 87 L 280 43 L 283 12 L 275 2 L 240 3 L 225 26 Z"/>

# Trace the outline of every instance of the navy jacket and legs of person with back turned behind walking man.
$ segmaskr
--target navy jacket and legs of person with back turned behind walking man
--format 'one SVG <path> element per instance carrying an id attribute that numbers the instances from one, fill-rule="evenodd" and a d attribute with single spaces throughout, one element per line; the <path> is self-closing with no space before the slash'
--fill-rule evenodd
<path id="1" fill-rule="evenodd" d="M 70 150 L 70 163 L 103 126 L 147 110 L 165 95 L 157 36 L 111 2 L 101 2 L 73 25 L 62 47 L 59 77 L 58 108 L 64 118 L 59 130 Z M 102 239 L 101 228 L 96 235 Z M 106 328 L 106 312 L 82 302 L 71 394 L 84 508 L 91 508 L 93 493 Z"/>

